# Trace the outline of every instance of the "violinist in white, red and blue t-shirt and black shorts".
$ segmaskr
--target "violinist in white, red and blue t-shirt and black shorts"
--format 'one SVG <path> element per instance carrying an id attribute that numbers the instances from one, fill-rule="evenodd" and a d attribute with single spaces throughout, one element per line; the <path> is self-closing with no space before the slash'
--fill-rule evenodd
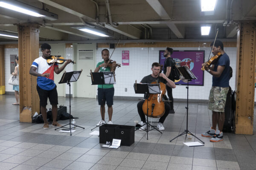
<path id="1" fill-rule="evenodd" d="M 58 113 L 58 93 L 54 83 L 54 72 L 60 74 L 61 71 L 71 62 L 71 59 L 67 59 L 61 68 L 58 68 L 58 63 L 48 64 L 47 59 L 51 58 L 51 46 L 47 43 L 41 45 L 42 57 L 34 60 L 29 70 L 29 74 L 38 77 L 37 78 L 37 91 L 40 99 L 40 111 L 44 119 L 44 129 L 49 129 L 49 123 L 47 121 L 46 105 L 49 98 L 52 105 L 52 126 L 61 127 L 57 122 Z M 54 71 L 54 72 L 53 72 Z"/>

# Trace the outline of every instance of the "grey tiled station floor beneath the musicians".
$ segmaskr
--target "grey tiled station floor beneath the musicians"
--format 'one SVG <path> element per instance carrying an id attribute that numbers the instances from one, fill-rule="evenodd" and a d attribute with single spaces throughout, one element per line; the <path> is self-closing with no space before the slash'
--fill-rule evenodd
<path id="1" fill-rule="evenodd" d="M 189 103 L 188 127 L 205 146 L 185 146 L 184 141 L 197 140 L 184 135 L 169 142 L 186 128 L 186 102 L 175 102 L 175 114 L 166 118 L 163 134 L 152 130 L 147 140 L 146 133 L 137 130 L 130 147 L 106 149 L 98 136 L 89 134 L 100 120 L 96 99 L 71 99 L 71 113 L 79 117 L 76 124 L 85 128 L 76 128 L 72 136 L 51 125 L 44 130 L 42 124 L 20 123 L 14 101 L 12 95 L 0 95 L 0 170 L 256 170 L 255 135 L 224 133 L 224 141 L 217 143 L 201 137 L 211 122 L 205 103 Z M 59 104 L 68 106 L 69 98 L 59 97 Z M 112 120 L 134 125 L 140 120 L 137 101 L 115 100 Z"/>

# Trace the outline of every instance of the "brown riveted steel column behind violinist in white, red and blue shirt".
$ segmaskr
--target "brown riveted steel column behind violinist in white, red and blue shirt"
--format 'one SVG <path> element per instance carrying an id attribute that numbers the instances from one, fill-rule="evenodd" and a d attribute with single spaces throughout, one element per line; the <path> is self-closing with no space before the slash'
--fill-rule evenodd
<path id="1" fill-rule="evenodd" d="M 37 77 L 29 74 L 32 62 L 39 57 L 39 25 L 18 25 L 20 122 L 32 122 L 32 116 L 40 111 L 36 91 Z"/>

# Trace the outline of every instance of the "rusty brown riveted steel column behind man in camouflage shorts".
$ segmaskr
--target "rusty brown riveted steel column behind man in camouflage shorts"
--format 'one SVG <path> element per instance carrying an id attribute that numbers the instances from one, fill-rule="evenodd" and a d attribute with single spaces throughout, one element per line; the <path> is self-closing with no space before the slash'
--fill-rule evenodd
<path id="1" fill-rule="evenodd" d="M 253 134 L 255 31 L 256 21 L 240 21 L 236 57 L 236 134 Z"/>

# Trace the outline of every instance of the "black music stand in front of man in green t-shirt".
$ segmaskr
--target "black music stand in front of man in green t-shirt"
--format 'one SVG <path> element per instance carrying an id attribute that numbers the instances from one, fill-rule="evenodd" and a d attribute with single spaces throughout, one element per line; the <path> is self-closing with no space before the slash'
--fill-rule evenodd
<path id="1" fill-rule="evenodd" d="M 113 71 L 105 71 L 105 72 L 90 72 L 90 77 L 92 80 L 92 85 L 108 85 L 108 84 L 116 84 L 116 78 Z M 102 99 L 103 100 L 103 99 Z M 103 107 L 102 107 L 102 116 L 103 116 Z M 105 124 L 103 120 L 99 122 L 99 125 L 96 125 L 96 127 L 99 127 L 100 125 Z M 95 129 L 94 127 L 93 129 Z M 91 130 L 93 130 L 91 129 Z"/>

